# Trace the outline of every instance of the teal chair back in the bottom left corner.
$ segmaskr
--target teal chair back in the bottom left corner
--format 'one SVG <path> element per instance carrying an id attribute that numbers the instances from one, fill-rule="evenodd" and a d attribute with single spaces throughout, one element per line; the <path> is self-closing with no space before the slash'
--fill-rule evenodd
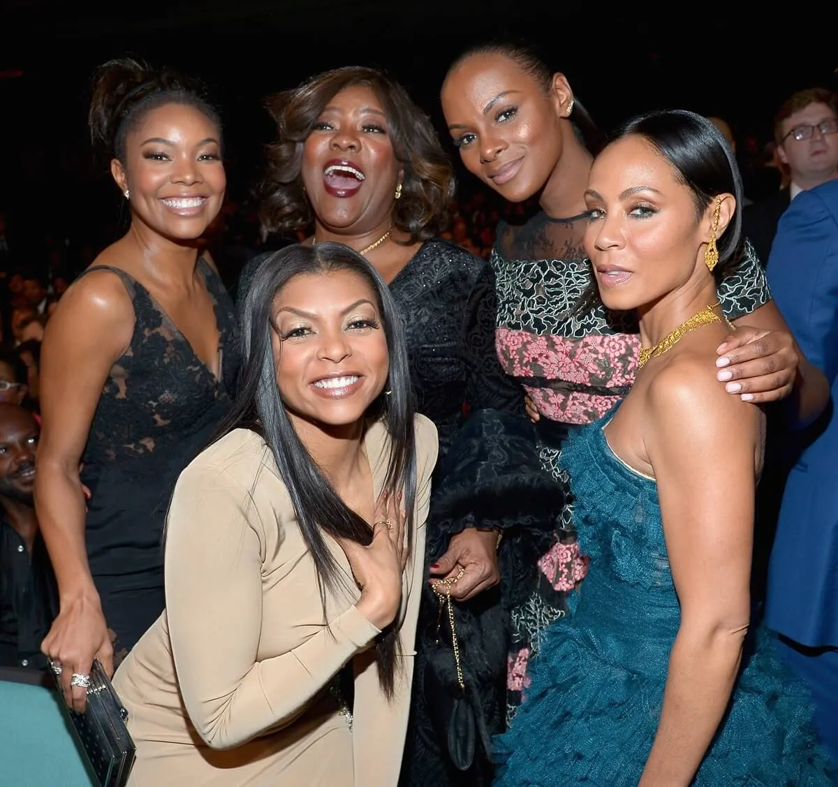
<path id="1" fill-rule="evenodd" d="M 96 787 L 49 676 L 0 670 L 0 787 Z"/>

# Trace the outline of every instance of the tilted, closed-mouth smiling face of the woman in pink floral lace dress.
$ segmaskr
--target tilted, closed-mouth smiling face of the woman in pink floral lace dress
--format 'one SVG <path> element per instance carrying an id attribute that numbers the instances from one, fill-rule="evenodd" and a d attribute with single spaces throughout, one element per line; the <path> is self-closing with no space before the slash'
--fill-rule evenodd
<path id="1" fill-rule="evenodd" d="M 502 54 L 474 54 L 442 85 L 442 111 L 470 173 L 511 202 L 544 188 L 561 158 L 561 117 L 571 94 L 548 91 Z"/>

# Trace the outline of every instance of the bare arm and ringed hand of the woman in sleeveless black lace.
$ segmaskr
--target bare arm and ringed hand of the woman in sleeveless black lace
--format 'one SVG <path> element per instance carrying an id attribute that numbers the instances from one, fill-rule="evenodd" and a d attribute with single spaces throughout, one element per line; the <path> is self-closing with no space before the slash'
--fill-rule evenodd
<path id="1" fill-rule="evenodd" d="M 85 546 L 85 495 L 79 465 L 111 367 L 131 344 L 134 314 L 122 282 L 93 272 L 70 287 L 49 319 L 41 349 L 43 426 L 35 474 L 35 505 L 59 584 L 59 616 L 42 650 L 64 668 L 65 698 L 73 672 L 90 672 L 94 657 L 113 671 L 111 641 L 101 614 Z M 66 679 L 66 680 L 64 680 Z"/>

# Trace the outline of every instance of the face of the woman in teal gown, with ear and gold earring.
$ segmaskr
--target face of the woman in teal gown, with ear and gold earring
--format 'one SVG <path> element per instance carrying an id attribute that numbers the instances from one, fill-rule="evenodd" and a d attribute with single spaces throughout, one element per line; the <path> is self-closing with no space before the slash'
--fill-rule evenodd
<path id="1" fill-rule="evenodd" d="M 585 202 L 591 212 L 585 251 L 608 308 L 639 308 L 710 277 L 704 249 L 712 205 L 699 220 L 691 190 L 644 138 L 623 137 L 605 148 Z M 726 202 L 719 236 L 730 207 Z"/>

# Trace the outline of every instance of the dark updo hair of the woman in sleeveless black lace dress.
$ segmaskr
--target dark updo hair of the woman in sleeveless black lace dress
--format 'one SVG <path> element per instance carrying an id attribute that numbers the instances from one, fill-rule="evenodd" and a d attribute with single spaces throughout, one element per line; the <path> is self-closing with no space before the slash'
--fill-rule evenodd
<path id="1" fill-rule="evenodd" d="M 87 124 L 97 154 L 125 158 L 125 137 L 148 111 L 164 104 L 194 106 L 221 129 L 221 119 L 198 80 L 169 69 L 153 69 L 133 58 L 108 60 L 93 74 Z"/>

